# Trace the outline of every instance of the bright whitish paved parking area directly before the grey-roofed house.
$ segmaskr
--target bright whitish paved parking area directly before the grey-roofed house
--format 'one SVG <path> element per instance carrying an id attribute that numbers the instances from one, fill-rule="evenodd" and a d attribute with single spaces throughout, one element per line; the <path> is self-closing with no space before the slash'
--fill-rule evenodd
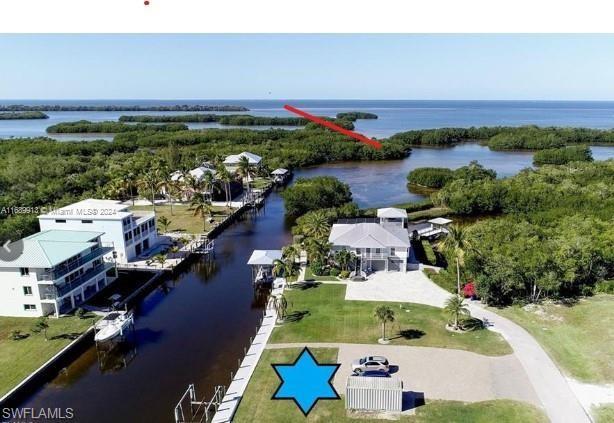
<path id="1" fill-rule="evenodd" d="M 420 270 L 375 272 L 364 282 L 348 282 L 346 300 L 395 301 L 443 307 L 450 293 L 434 284 Z"/>

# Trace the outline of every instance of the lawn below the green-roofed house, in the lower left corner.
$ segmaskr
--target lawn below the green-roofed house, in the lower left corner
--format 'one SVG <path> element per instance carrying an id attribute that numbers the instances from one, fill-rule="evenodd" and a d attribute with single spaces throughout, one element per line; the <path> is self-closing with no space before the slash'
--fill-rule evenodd
<path id="1" fill-rule="evenodd" d="M 92 325 L 92 318 L 50 318 L 47 330 L 49 340 L 45 341 L 43 333 L 31 332 L 35 321 L 28 317 L 0 317 L 0 396 Z M 13 330 L 20 330 L 27 337 L 14 341 L 11 339 Z"/>

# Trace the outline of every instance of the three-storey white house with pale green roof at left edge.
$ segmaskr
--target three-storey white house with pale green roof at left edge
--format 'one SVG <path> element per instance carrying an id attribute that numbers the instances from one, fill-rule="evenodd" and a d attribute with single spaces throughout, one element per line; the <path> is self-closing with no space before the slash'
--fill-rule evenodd
<path id="1" fill-rule="evenodd" d="M 112 248 L 102 236 L 95 231 L 45 230 L 17 241 L 22 254 L 0 261 L 0 315 L 58 317 L 113 281 L 114 263 L 104 260 Z"/>

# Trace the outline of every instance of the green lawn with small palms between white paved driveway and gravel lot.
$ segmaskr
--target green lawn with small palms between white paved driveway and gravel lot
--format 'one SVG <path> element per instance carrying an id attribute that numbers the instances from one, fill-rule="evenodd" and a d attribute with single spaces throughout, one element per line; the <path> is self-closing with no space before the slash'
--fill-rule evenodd
<path id="1" fill-rule="evenodd" d="M 381 327 L 373 311 L 382 303 L 346 301 L 345 288 L 321 284 L 286 291 L 289 318 L 273 331 L 270 342 L 377 342 Z M 388 325 L 392 344 L 455 348 L 485 355 L 512 352 L 499 334 L 486 329 L 463 334 L 447 331 L 447 317 L 439 308 L 403 304 L 409 307 L 406 312 L 398 303 L 385 304 L 395 310 L 396 321 Z"/>

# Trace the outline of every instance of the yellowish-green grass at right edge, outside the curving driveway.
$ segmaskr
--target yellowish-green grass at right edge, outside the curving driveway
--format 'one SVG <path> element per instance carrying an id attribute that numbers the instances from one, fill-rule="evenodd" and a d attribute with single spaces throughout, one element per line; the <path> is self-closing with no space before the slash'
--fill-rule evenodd
<path id="1" fill-rule="evenodd" d="M 570 376 L 614 382 L 614 295 L 596 295 L 573 306 L 547 303 L 535 310 L 497 309 L 528 330 Z"/>

